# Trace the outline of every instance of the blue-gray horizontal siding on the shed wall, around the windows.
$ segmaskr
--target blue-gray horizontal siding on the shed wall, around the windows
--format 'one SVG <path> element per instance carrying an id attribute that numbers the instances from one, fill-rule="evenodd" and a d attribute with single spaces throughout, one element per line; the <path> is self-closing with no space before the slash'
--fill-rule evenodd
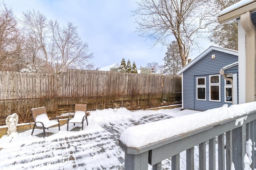
<path id="1" fill-rule="evenodd" d="M 215 54 L 215 59 L 212 59 Z M 221 102 L 209 101 L 209 75 L 219 74 L 219 71 L 229 64 L 238 61 L 238 56 L 213 50 L 183 72 L 183 108 L 204 111 L 224 104 L 224 78 L 221 76 Z M 206 101 L 196 100 L 196 77 L 206 77 Z"/>

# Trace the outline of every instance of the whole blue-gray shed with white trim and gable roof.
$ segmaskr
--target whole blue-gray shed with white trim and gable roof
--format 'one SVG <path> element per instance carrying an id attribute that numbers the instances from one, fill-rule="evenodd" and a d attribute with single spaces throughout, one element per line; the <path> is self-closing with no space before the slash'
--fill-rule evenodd
<path id="1" fill-rule="evenodd" d="M 204 111 L 238 101 L 238 51 L 210 46 L 206 51 L 178 71 L 182 75 L 182 108 Z M 224 79 L 224 69 L 233 79 Z"/>

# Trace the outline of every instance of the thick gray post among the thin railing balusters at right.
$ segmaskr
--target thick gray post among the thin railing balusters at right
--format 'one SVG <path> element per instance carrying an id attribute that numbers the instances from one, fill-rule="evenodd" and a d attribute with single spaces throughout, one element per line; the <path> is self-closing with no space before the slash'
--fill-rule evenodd
<path id="1" fill-rule="evenodd" d="M 246 153 L 246 125 L 232 130 L 232 154 L 233 163 L 236 170 L 244 169 L 244 155 Z"/>

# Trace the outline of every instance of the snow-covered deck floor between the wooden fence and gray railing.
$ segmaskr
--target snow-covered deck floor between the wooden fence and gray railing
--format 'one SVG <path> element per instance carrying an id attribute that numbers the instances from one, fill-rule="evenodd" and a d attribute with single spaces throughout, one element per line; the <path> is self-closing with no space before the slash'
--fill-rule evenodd
<path id="1" fill-rule="evenodd" d="M 90 111 L 89 125 L 84 127 L 84 131 L 66 131 L 65 124 L 60 127 L 60 131 L 58 127 L 50 128 L 46 132 L 53 134 L 45 138 L 35 136 L 42 133 L 40 129 L 35 129 L 33 136 L 32 130 L 4 135 L 0 139 L 0 169 L 121 170 L 124 169 L 124 151 L 118 146 L 118 140 L 128 127 L 196 115 L 197 112 L 181 111 L 181 108 L 138 111 L 104 109 Z M 73 128 L 70 124 L 70 129 Z M 198 169 L 198 147 L 194 149 L 194 164 L 195 169 Z M 162 168 L 171 168 L 170 159 L 162 161 Z M 180 169 L 186 169 L 186 151 L 180 153 Z"/>

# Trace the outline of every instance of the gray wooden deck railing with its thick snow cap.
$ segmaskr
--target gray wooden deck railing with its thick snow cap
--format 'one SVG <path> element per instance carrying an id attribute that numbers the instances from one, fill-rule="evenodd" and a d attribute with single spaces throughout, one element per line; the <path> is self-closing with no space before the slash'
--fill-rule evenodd
<path id="1" fill-rule="evenodd" d="M 172 166 L 176 167 L 174 169 L 179 169 L 179 153 L 184 150 L 187 150 L 187 166 L 193 167 L 195 145 L 199 145 L 199 166 L 206 169 L 205 145 L 209 140 L 208 168 L 212 169 L 216 164 L 215 137 L 218 136 L 219 169 L 225 167 L 225 148 L 227 169 L 231 166 L 235 169 L 244 169 L 245 166 L 255 168 L 254 150 L 251 151 L 253 154 L 247 154 L 254 161 L 244 163 L 246 141 L 250 139 L 254 145 L 252 148 L 255 148 L 255 126 L 256 102 L 230 107 L 224 105 L 200 113 L 129 127 L 120 135 L 119 145 L 125 150 L 126 169 L 147 169 L 148 163 L 157 169 L 161 167 L 162 160 L 170 157 L 174 164 Z"/>

